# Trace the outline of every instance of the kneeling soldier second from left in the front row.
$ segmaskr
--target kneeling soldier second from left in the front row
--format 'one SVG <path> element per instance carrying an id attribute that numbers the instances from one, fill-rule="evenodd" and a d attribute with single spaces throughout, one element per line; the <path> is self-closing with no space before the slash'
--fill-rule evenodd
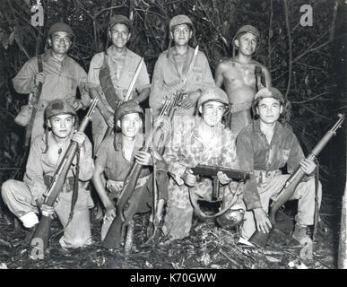
<path id="1" fill-rule="evenodd" d="M 143 165 L 140 177 L 137 180 L 133 196 L 128 200 L 124 212 L 125 226 L 130 222 L 135 213 L 146 213 L 152 206 L 152 165 L 153 158 L 150 152 L 139 151 L 143 147 L 143 109 L 134 101 L 124 102 L 115 115 L 117 127 L 121 132 L 109 135 L 100 144 L 95 160 L 93 183 L 100 199 L 106 208 L 104 221 L 101 228 L 101 240 L 105 239 L 109 226 L 116 217 L 114 200 L 118 198 L 124 187 L 124 180 L 131 170 L 134 161 Z M 165 161 L 158 152 L 153 150 L 154 163 L 157 170 L 166 170 Z M 166 172 L 164 172 L 165 174 Z M 106 187 L 102 182 L 105 175 Z M 158 213 L 161 213 L 165 203 L 164 193 L 160 192 Z"/>

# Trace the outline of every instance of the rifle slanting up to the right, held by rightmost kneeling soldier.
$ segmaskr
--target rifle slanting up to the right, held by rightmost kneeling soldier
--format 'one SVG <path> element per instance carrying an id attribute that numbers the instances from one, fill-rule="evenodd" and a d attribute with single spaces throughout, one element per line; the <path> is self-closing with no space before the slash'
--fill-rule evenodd
<path id="1" fill-rule="evenodd" d="M 340 117 L 334 126 L 328 130 L 323 138 L 316 144 L 314 149 L 311 153 L 308 154 L 307 159 L 310 161 L 314 161 L 317 158 L 317 155 L 319 152 L 321 152 L 326 143 L 330 141 L 330 139 L 333 137 L 333 135 L 336 135 L 336 130 L 342 126 L 344 115 L 338 114 L 338 117 Z M 285 204 L 288 199 L 291 198 L 291 196 L 295 192 L 295 188 L 299 185 L 302 178 L 305 177 L 305 172 L 301 170 L 300 166 L 291 174 L 291 177 L 287 179 L 287 181 L 284 184 L 284 187 L 282 187 L 282 190 L 280 193 L 273 198 L 273 203 L 271 204 L 271 212 L 269 215 L 270 222 L 273 224 L 273 226 L 276 224 L 276 213 L 281 208 L 283 204 Z M 267 244 L 267 240 L 269 239 L 269 233 L 263 233 L 261 231 L 256 230 L 256 232 L 250 237 L 248 240 L 249 242 L 255 244 L 258 247 L 265 248 Z"/>

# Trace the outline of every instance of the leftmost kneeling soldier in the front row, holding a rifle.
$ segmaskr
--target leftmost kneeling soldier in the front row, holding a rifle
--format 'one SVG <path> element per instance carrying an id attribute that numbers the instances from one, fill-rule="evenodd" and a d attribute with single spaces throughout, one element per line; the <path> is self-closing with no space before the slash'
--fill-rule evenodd
<path id="1" fill-rule="evenodd" d="M 56 213 L 65 227 L 59 240 L 63 248 L 80 248 L 91 244 L 91 223 L 89 208 L 93 206 L 90 191 L 86 189 L 94 171 L 91 158 L 91 142 L 82 132 L 75 131 L 76 112 L 65 100 L 52 100 L 46 108 L 47 126 L 45 134 L 38 135 L 30 146 L 30 154 L 23 181 L 9 179 L 4 182 L 2 196 L 11 212 L 33 229 L 39 218 L 37 213 Z M 48 131 L 49 129 L 49 131 Z M 54 207 L 45 204 L 45 192 L 62 161 L 71 141 L 80 146 L 80 161 L 74 159 L 65 179 L 65 186 Z M 74 178 L 79 169 L 79 178 Z M 74 205 L 74 216 L 68 222 L 73 200 L 73 187 L 78 184 L 78 199 Z M 67 224 L 67 226 L 66 226 Z"/>

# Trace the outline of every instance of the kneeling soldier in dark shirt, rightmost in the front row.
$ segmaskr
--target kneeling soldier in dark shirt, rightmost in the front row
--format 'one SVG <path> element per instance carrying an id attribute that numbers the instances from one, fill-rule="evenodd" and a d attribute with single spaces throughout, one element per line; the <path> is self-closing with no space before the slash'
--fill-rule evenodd
<path id="1" fill-rule="evenodd" d="M 249 188 L 244 199 L 247 205 L 245 222 L 241 236 L 247 244 L 252 234 L 258 230 L 268 233 L 272 223 L 268 217 L 270 199 L 279 194 L 291 172 L 298 166 L 306 177 L 295 188 L 289 200 L 299 199 L 298 214 L 295 217 L 295 229 L 292 238 L 304 242 L 310 241 L 307 233 L 308 225 L 314 223 L 315 213 L 315 161 L 305 159 L 296 135 L 284 121 L 288 113 L 288 103 L 281 91 L 275 88 L 263 88 L 256 93 L 253 101 L 255 115 L 259 117 L 239 133 L 237 139 L 239 159 L 244 169 L 254 170 Z M 282 174 L 287 166 L 290 174 Z M 253 181 L 253 183 L 252 183 Z M 317 200 L 322 198 L 321 184 L 317 187 Z"/>

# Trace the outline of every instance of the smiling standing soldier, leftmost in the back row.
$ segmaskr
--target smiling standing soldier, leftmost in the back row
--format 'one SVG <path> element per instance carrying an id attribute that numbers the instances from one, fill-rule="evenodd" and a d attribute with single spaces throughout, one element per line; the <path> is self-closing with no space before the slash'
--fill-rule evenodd
<path id="1" fill-rule="evenodd" d="M 42 83 L 42 92 L 37 103 L 37 112 L 33 122 L 31 141 L 36 135 L 44 132 L 44 111 L 49 100 L 65 99 L 74 106 L 74 109 L 85 109 L 90 105 L 88 93 L 84 87 L 87 83 L 87 74 L 81 65 L 67 56 L 72 47 L 74 31 L 62 22 L 56 22 L 48 30 L 48 46 L 43 55 L 32 57 L 26 62 L 21 71 L 13 78 L 14 90 L 19 93 L 34 93 L 39 83 Z M 43 72 L 39 72 L 39 61 Z M 82 100 L 76 99 L 77 87 Z"/>

